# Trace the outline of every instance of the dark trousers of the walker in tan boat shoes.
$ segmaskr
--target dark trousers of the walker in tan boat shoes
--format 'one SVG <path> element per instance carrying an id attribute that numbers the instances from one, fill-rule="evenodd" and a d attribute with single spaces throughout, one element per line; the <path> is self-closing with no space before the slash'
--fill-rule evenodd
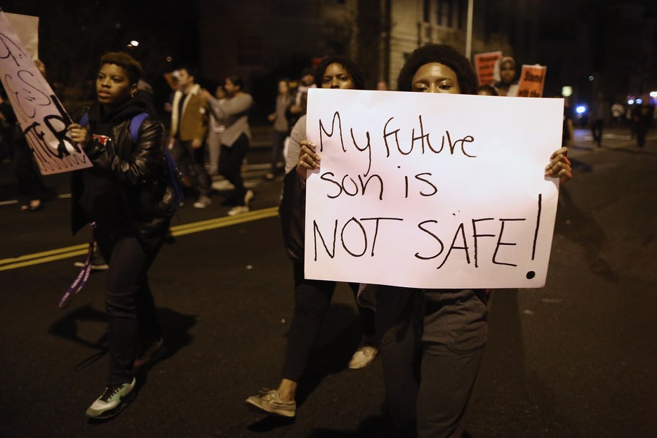
<path id="1" fill-rule="evenodd" d="M 350 283 L 349 286 L 355 298 L 358 285 Z M 285 350 L 283 378 L 299 381 L 335 289 L 335 281 L 305 279 L 303 262 L 294 262 L 295 305 Z M 374 336 L 374 312 L 361 306 L 358 306 L 358 312 L 364 335 Z"/>

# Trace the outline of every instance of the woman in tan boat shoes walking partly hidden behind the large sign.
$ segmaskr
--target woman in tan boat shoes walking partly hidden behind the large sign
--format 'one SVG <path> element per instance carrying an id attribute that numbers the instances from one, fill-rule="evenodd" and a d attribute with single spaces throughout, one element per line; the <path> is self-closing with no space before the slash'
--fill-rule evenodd
<path id="1" fill-rule="evenodd" d="M 328 56 L 315 69 L 315 82 L 319 88 L 363 90 L 364 75 L 351 60 Z M 291 133 L 286 156 L 284 194 L 281 200 L 281 223 L 288 255 L 294 264 L 295 309 L 288 332 L 283 373 L 276 390 L 263 391 L 246 399 L 246 403 L 267 413 L 293 417 L 296 415 L 296 390 L 305 370 L 310 350 L 319 331 L 321 321 L 331 304 L 335 281 L 305 279 L 303 263 L 303 221 L 305 220 L 305 171 L 297 173 L 296 166 L 302 145 L 307 145 L 306 116 L 300 117 Z M 297 172 L 294 169 L 297 169 Z M 289 231 L 294 229 L 293 231 Z M 292 234 L 292 235 L 291 235 Z M 354 297 L 357 284 L 350 284 Z M 359 369 L 371 363 L 378 352 L 374 332 L 374 314 L 371 309 L 358 306 L 363 343 L 354 353 L 349 368 Z"/>

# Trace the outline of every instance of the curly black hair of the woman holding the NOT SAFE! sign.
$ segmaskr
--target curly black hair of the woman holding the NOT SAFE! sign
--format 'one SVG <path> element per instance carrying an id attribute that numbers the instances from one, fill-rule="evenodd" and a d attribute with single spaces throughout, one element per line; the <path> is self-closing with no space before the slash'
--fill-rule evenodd
<path id="1" fill-rule="evenodd" d="M 461 94 L 477 94 L 477 74 L 472 69 L 470 61 L 456 48 L 447 44 L 427 44 L 416 48 L 399 71 L 397 91 L 413 91 L 413 84 L 411 84 L 413 76 L 420 67 L 430 62 L 444 64 L 456 73 Z"/>

